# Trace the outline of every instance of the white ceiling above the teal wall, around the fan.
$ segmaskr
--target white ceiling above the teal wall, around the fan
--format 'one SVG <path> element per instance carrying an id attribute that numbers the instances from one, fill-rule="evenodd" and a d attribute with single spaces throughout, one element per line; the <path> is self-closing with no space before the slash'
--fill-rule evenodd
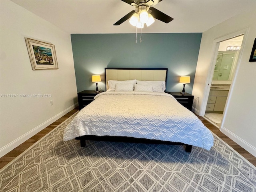
<path id="1" fill-rule="evenodd" d="M 113 26 L 134 10 L 121 0 L 12 0 L 70 34 L 134 33 L 129 21 Z M 204 32 L 242 12 L 253 11 L 256 0 L 162 0 L 154 8 L 174 18 L 156 20 L 143 33 Z M 255 18 L 252 18 L 255 19 Z"/>

